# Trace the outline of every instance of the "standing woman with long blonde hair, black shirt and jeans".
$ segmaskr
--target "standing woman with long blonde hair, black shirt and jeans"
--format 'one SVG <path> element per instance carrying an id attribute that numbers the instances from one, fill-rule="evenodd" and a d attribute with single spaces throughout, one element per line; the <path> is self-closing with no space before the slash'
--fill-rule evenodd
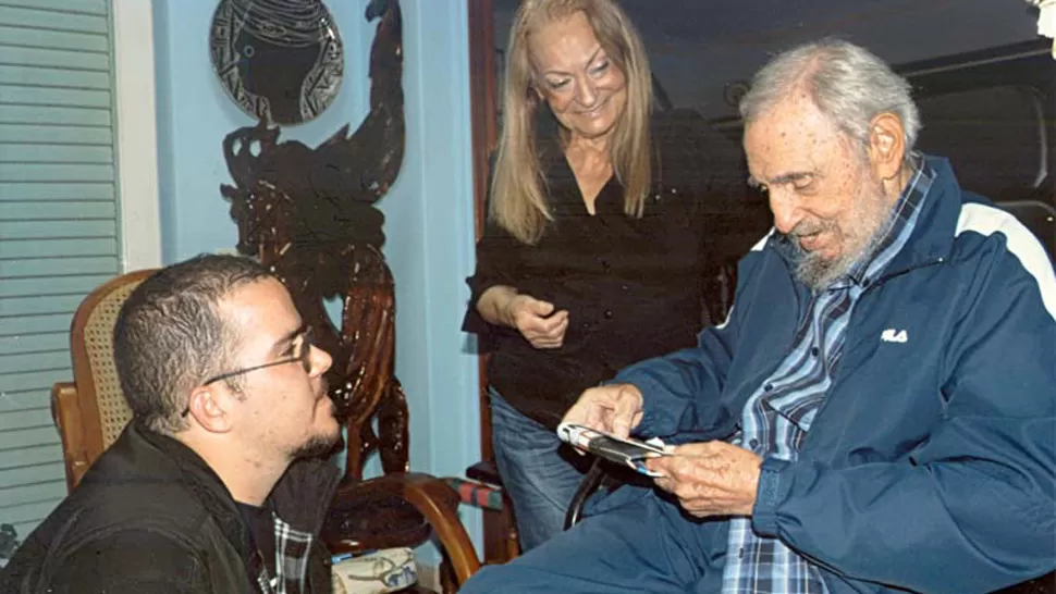
<path id="1" fill-rule="evenodd" d="M 699 127 L 688 146 L 652 113 L 649 60 L 613 0 L 525 0 L 506 55 L 465 330 L 492 352 L 496 463 L 529 549 L 561 530 L 582 477 L 554 434 L 565 410 L 695 344 L 704 199 L 745 174 L 737 147 L 712 150 L 722 140 Z"/>

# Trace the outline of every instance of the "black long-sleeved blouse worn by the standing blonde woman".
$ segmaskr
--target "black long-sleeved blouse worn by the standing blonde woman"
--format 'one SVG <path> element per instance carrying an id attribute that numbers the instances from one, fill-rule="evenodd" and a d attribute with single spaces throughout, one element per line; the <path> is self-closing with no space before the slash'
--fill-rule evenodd
<path id="1" fill-rule="evenodd" d="M 552 117 L 552 116 L 551 116 Z M 488 381 L 512 406 L 555 428 L 579 395 L 630 363 L 692 346 L 702 324 L 705 269 L 736 258 L 769 216 L 746 191 L 739 147 L 696 116 L 654 120 L 652 191 L 640 219 L 623 211 L 623 186 L 602 188 L 590 215 L 556 140 L 538 144 L 554 221 L 535 246 L 493 223 L 477 244 L 463 329 L 491 354 Z M 480 295 L 509 285 L 568 310 L 564 345 L 536 349 L 515 329 L 477 312 Z M 648 397 L 648 395 L 647 395 Z"/>

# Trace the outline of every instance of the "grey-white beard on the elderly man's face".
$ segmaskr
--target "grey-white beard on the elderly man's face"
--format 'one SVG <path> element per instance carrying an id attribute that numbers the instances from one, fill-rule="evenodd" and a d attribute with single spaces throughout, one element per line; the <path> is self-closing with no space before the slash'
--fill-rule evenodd
<path id="1" fill-rule="evenodd" d="M 820 292 L 828 288 L 833 282 L 846 275 L 856 262 L 862 258 L 869 258 L 891 228 L 893 223 L 891 207 L 882 186 L 862 187 L 858 203 L 861 209 L 860 216 L 854 221 L 850 228 L 842 230 L 845 244 L 843 251 L 836 258 L 825 259 L 816 251 L 803 250 L 798 237 L 834 228 L 836 223 L 827 222 L 821 226 L 800 224 L 788 234 L 788 238 L 802 256 L 796 267 L 796 277 L 812 290 Z"/>

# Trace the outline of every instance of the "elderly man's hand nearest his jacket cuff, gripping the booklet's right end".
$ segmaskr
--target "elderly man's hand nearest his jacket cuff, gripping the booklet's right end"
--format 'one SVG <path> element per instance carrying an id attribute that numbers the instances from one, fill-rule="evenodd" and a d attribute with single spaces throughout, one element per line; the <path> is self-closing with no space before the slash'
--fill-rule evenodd
<path id="1" fill-rule="evenodd" d="M 678 497 L 698 518 L 751 516 L 762 458 L 725 442 L 688 444 L 646 462 L 659 472 L 656 486 Z"/>

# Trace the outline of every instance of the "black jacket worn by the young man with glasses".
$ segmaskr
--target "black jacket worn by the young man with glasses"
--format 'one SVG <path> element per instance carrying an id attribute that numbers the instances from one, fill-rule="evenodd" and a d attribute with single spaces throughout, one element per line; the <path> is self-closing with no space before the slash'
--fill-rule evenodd
<path id="1" fill-rule="evenodd" d="M 321 460 L 294 462 L 269 497 L 319 534 L 337 484 Z M 249 529 L 191 448 L 132 423 L 0 573 L 4 594 L 255 593 Z M 306 594 L 329 594 L 330 555 L 312 543 Z"/>

